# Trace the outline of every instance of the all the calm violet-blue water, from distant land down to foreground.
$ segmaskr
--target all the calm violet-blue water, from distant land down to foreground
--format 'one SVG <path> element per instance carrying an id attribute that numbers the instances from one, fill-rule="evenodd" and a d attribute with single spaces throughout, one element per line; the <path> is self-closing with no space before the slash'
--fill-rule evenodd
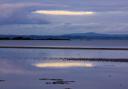
<path id="1" fill-rule="evenodd" d="M 0 41 L 0 45 L 127 48 L 128 42 Z M 0 80 L 5 80 L 0 81 L 0 89 L 128 88 L 128 63 L 56 59 L 60 57 L 128 58 L 128 51 L 0 48 Z"/>

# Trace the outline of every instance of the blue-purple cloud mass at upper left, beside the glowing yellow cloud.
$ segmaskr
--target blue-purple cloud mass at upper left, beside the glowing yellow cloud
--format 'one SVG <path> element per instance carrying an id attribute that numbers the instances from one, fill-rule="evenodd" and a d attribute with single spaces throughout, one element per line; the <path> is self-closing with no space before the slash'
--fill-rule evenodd
<path id="1" fill-rule="evenodd" d="M 57 7 L 45 3 L 11 3 L 0 4 L 0 25 L 6 24 L 49 24 L 45 17 L 31 14 L 33 10 L 44 7 Z M 63 7 L 63 5 L 62 5 Z"/>

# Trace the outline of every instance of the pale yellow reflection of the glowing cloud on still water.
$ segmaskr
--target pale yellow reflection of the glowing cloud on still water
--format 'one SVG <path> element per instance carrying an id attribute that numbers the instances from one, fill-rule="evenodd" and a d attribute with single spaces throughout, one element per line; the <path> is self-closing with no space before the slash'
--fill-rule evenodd
<path id="1" fill-rule="evenodd" d="M 34 64 L 38 68 L 68 68 L 68 67 L 94 67 L 92 63 L 82 62 L 50 62 Z"/>

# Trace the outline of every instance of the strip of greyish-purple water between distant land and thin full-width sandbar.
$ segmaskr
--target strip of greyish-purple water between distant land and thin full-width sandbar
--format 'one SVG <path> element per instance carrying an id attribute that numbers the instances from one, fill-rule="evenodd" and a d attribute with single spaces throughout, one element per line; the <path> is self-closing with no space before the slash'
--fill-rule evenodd
<path id="1" fill-rule="evenodd" d="M 128 40 L 0 40 L 0 46 L 73 46 L 128 48 Z"/>

